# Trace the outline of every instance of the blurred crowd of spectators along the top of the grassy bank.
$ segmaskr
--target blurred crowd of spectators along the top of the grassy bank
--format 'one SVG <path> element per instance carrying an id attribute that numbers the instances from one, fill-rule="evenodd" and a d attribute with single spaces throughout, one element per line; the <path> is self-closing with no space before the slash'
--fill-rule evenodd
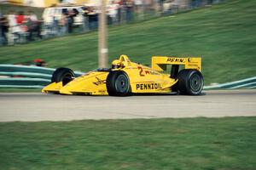
<path id="1" fill-rule="evenodd" d="M 221 0 L 113 0 L 107 6 L 108 25 L 118 25 L 134 20 L 146 20 L 163 14 L 219 3 Z M 185 2 L 185 3 L 184 3 Z M 84 6 L 82 14 L 77 8 L 63 8 L 61 17 L 52 16 L 50 22 L 41 20 L 32 11 L 0 12 L 0 46 L 62 36 L 68 33 L 95 30 L 99 9 Z M 80 20 L 77 21 L 79 16 Z"/>

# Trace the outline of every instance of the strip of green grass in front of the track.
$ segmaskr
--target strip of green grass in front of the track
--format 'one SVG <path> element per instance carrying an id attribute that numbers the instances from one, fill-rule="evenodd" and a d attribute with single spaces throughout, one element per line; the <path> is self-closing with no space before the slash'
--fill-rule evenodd
<path id="1" fill-rule="evenodd" d="M 256 168 L 256 117 L 1 122 L 1 169 Z"/>

